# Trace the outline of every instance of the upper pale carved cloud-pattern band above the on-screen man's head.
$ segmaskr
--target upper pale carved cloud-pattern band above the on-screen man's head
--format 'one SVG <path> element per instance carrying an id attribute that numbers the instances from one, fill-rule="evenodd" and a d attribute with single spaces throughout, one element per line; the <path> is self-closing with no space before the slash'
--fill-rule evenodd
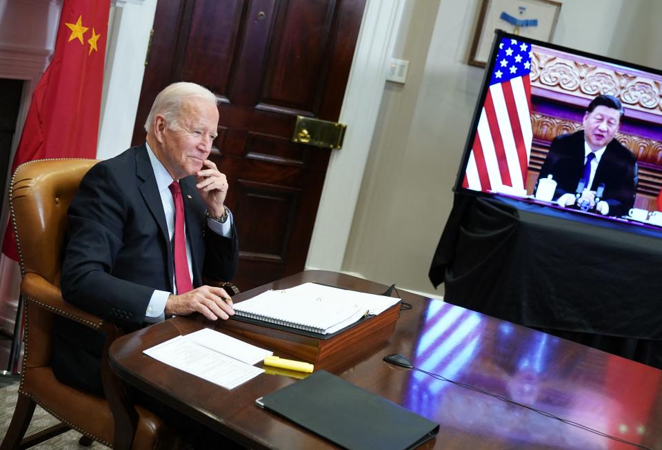
<path id="1" fill-rule="evenodd" d="M 585 99 L 614 95 L 626 108 L 662 116 L 662 77 L 593 59 L 576 61 L 545 50 L 534 47 L 532 52 L 531 86 Z M 662 122 L 662 117 L 655 122 Z"/>

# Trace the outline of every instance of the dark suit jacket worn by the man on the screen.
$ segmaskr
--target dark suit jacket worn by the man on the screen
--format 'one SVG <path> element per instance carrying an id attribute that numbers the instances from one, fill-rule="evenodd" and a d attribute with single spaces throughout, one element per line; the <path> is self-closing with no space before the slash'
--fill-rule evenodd
<path id="1" fill-rule="evenodd" d="M 565 193 L 574 194 L 583 172 L 583 130 L 555 137 L 539 176 L 539 179 L 543 179 L 552 174 L 556 180 L 554 200 Z M 634 204 L 636 182 L 636 157 L 619 141 L 612 139 L 600 159 L 591 190 L 596 190 L 604 183 L 602 199 L 609 205 L 608 214 L 626 215 Z"/>

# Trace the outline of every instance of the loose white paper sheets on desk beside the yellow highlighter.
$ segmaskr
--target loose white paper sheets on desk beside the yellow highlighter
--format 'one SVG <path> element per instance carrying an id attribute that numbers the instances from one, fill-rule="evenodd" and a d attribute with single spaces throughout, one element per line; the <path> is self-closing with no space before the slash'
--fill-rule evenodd
<path id="1" fill-rule="evenodd" d="M 206 328 L 173 337 L 143 353 L 225 389 L 234 389 L 263 373 L 252 364 L 273 355 L 272 351 Z"/>

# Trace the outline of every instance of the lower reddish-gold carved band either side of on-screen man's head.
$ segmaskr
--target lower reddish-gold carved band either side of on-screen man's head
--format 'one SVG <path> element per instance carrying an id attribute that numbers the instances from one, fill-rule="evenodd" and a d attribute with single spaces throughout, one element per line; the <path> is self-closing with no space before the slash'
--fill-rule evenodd
<path id="1" fill-rule="evenodd" d="M 581 128 L 579 122 L 539 113 L 531 115 L 531 122 L 534 139 L 547 142 L 551 142 L 556 136 L 573 133 Z M 625 133 L 616 133 L 616 139 L 634 153 L 638 162 L 662 166 L 662 141 Z"/>

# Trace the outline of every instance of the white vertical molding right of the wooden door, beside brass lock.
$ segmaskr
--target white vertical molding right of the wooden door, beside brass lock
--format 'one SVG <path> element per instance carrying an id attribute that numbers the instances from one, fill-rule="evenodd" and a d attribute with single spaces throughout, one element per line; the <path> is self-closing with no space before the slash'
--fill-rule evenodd
<path id="1" fill-rule="evenodd" d="M 341 271 L 404 3 L 368 0 L 365 5 L 339 119 L 347 132 L 343 148 L 331 154 L 307 267 Z"/>

